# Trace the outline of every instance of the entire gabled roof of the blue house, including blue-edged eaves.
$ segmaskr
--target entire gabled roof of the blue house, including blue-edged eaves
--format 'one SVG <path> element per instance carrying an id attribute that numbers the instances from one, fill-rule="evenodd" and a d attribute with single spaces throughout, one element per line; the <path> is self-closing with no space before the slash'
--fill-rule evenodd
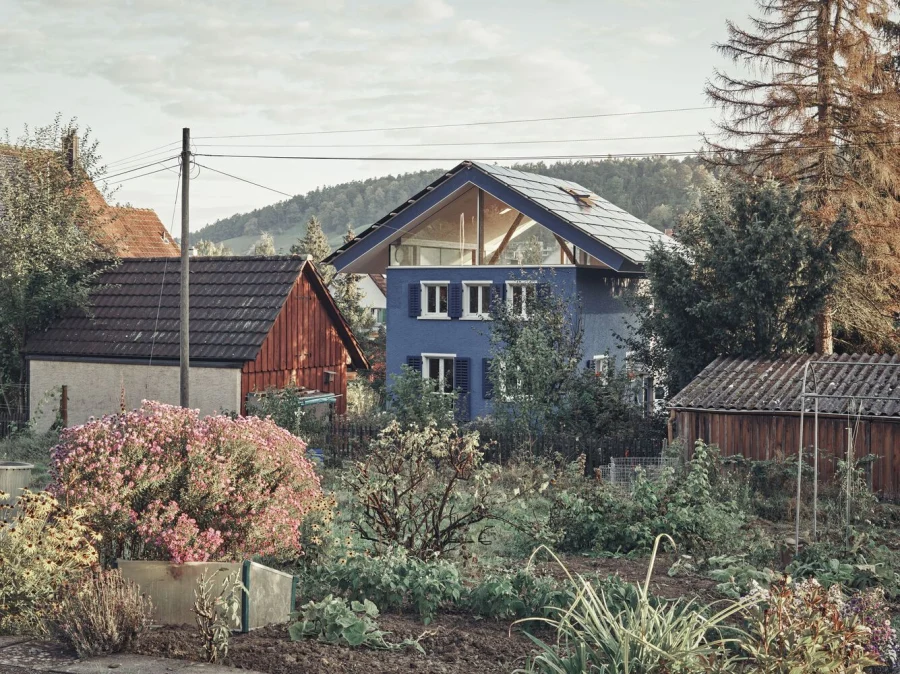
<path id="1" fill-rule="evenodd" d="M 577 183 L 465 161 L 338 248 L 326 262 L 341 271 L 379 244 L 396 238 L 399 230 L 415 224 L 467 183 L 525 213 L 615 270 L 640 271 L 651 246 L 670 240 Z"/>

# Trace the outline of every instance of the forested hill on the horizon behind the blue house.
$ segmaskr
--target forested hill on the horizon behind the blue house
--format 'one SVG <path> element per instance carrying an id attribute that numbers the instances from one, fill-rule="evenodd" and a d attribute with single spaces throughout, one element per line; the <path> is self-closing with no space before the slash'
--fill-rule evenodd
<path id="1" fill-rule="evenodd" d="M 698 189 L 710 180 L 710 174 L 694 157 L 520 164 L 515 168 L 579 183 L 660 229 L 670 227 L 694 203 Z M 441 169 L 417 171 L 322 187 L 219 220 L 195 236 L 224 242 L 241 254 L 261 233 L 268 232 L 275 237 L 277 247 L 286 251 L 303 235 L 309 217 L 316 215 L 332 245 L 337 245 L 348 224 L 359 232 L 441 173 Z"/>

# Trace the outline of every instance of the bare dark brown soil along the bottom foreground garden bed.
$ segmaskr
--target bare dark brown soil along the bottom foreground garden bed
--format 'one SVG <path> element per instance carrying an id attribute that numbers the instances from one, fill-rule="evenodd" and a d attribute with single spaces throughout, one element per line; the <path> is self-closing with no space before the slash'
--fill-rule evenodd
<path id="1" fill-rule="evenodd" d="M 442 614 L 424 627 L 416 616 L 382 614 L 381 629 L 389 639 L 401 641 L 426 633 L 421 640 L 426 655 L 415 649 L 379 651 L 345 648 L 314 639 L 290 641 L 287 627 L 273 625 L 232 637 L 223 663 L 267 674 L 502 674 L 525 664 L 535 651 L 527 637 L 510 634 L 509 622 L 477 620 L 469 615 Z M 202 645 L 196 628 L 161 627 L 147 635 L 136 653 L 157 657 L 200 660 Z"/>

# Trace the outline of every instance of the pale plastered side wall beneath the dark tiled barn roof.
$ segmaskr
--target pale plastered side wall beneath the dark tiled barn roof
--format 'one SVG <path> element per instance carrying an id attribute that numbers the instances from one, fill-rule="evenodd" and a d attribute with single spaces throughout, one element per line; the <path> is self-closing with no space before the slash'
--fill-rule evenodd
<path id="1" fill-rule="evenodd" d="M 123 388 L 126 409 L 140 407 L 142 400 L 179 402 L 177 365 L 31 360 L 29 409 L 36 430 L 44 431 L 53 423 L 63 384 L 68 386 L 70 426 L 118 412 Z M 191 407 L 201 414 L 240 410 L 239 368 L 191 367 L 190 387 Z"/>

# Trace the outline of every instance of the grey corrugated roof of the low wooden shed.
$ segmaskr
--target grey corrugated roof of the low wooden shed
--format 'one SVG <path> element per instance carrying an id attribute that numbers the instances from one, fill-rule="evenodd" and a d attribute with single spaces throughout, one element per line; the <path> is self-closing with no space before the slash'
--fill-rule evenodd
<path id="1" fill-rule="evenodd" d="M 900 356 L 804 354 L 786 358 L 718 358 L 669 401 L 674 409 L 799 412 L 803 371 L 807 391 L 819 398 L 820 414 L 900 418 Z M 887 367 L 883 364 L 891 364 Z M 815 390 L 814 390 L 815 387 Z M 893 398 L 871 400 L 866 396 Z M 807 411 L 814 399 L 808 398 Z"/>

